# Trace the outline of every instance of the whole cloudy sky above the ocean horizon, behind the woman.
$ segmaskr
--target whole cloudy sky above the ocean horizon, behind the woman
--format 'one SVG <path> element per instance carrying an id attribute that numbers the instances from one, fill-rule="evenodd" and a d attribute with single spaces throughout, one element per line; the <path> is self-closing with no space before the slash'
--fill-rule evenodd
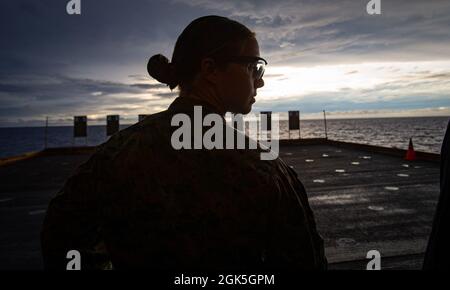
<path id="1" fill-rule="evenodd" d="M 450 1 L 68 0 L 0 2 L 0 127 L 121 123 L 177 96 L 148 76 L 195 18 L 221 15 L 256 32 L 268 60 L 253 112 L 304 118 L 449 116 Z"/>

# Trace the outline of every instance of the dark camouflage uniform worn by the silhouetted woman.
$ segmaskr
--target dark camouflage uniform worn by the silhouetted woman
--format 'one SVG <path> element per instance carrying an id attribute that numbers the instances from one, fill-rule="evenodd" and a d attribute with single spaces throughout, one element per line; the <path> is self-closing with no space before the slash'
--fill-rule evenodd
<path id="1" fill-rule="evenodd" d="M 44 265 L 65 269 L 325 269 L 305 189 L 260 152 L 175 150 L 171 117 L 207 104 L 177 98 L 113 135 L 50 202 Z"/>

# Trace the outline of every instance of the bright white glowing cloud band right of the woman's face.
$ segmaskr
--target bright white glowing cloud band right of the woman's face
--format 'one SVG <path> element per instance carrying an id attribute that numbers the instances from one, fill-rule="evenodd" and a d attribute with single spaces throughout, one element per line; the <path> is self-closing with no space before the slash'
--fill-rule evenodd
<path id="1" fill-rule="evenodd" d="M 450 107 L 449 73 L 450 62 L 291 68 L 288 80 L 267 81 L 254 110 L 313 113 Z"/>

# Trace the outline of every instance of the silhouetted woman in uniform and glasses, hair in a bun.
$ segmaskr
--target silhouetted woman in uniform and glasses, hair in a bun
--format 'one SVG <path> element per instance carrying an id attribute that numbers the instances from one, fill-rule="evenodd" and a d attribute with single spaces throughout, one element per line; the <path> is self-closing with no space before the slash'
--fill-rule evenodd
<path id="1" fill-rule="evenodd" d="M 296 173 L 261 149 L 176 150 L 176 114 L 250 112 L 266 61 L 255 34 L 219 16 L 191 22 L 148 71 L 179 97 L 112 136 L 71 176 L 42 230 L 47 268 L 325 269 Z M 198 141 L 198 140 L 197 140 Z M 248 141 L 248 139 L 247 139 Z M 195 140 L 193 140 L 195 142 Z"/>

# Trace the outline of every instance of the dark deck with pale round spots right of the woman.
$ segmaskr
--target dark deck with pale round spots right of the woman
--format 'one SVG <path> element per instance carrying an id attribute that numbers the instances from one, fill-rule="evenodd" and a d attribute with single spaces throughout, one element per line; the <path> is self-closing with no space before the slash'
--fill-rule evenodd
<path id="1" fill-rule="evenodd" d="M 365 269 L 369 250 L 384 268 L 421 268 L 439 163 L 327 145 L 284 146 L 281 158 L 305 185 L 330 268 Z"/>

